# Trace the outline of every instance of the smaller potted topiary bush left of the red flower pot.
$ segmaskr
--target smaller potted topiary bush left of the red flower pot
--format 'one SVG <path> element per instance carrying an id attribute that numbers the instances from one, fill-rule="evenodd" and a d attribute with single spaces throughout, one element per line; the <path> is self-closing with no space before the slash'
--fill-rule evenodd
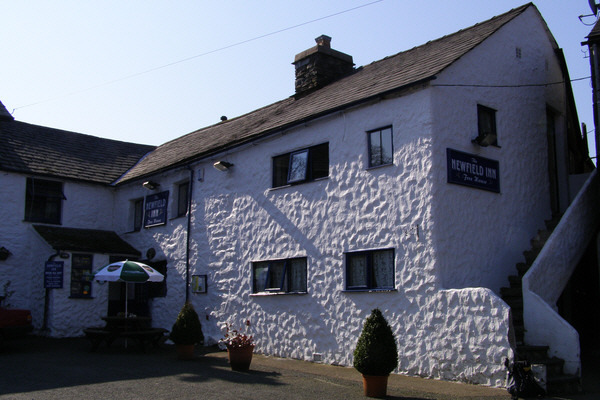
<path id="1" fill-rule="evenodd" d="M 193 358 L 196 344 L 204 344 L 200 318 L 191 303 L 185 303 L 179 311 L 173 328 L 171 328 L 169 339 L 175 343 L 180 359 Z"/>

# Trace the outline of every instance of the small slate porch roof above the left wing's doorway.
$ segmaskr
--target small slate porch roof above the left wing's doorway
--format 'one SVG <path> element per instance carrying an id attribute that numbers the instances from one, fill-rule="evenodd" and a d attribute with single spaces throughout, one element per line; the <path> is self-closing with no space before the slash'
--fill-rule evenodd
<path id="1" fill-rule="evenodd" d="M 33 225 L 54 250 L 140 257 L 141 253 L 113 231 Z"/>

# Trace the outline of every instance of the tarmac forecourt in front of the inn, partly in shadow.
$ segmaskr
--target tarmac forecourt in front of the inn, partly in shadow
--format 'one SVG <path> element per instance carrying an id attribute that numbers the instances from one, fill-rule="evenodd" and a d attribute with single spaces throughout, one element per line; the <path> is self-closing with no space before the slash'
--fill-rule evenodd
<path id="1" fill-rule="evenodd" d="M 89 351 L 79 339 L 31 337 L 0 349 L 0 399 L 361 399 L 353 368 L 255 354 L 234 372 L 227 353 L 203 348 L 190 361 L 163 345 L 141 352 L 115 342 Z M 504 389 L 391 375 L 389 399 L 507 400 Z M 584 399 L 586 397 L 573 397 Z M 592 398 L 592 397 L 589 397 Z M 597 398 L 597 397 L 594 397 Z"/>

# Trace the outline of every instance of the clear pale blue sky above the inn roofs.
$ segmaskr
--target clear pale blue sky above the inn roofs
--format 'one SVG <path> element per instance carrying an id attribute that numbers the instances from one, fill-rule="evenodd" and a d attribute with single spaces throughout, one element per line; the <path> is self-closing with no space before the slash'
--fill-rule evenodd
<path id="1" fill-rule="evenodd" d="M 294 93 L 294 55 L 326 34 L 356 66 L 525 1 L 0 0 L 0 101 L 20 121 L 162 144 Z M 538 0 L 571 79 L 590 76 L 587 0 Z M 593 129 L 590 79 L 573 82 Z M 591 149 L 592 150 L 592 149 Z M 595 154 L 592 154 L 595 155 Z"/>

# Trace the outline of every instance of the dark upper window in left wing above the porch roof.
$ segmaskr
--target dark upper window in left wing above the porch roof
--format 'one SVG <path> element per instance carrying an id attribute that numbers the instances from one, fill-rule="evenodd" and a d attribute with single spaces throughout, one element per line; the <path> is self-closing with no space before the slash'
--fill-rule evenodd
<path id="1" fill-rule="evenodd" d="M 62 182 L 27 178 L 25 221 L 60 224 L 63 200 Z"/>

